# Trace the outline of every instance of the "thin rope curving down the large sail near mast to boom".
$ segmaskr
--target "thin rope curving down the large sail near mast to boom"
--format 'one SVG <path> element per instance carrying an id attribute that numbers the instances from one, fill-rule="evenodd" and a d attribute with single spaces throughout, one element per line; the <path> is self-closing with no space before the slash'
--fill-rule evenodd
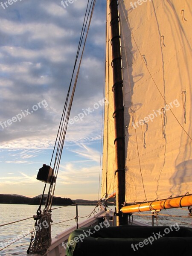
<path id="1" fill-rule="evenodd" d="M 121 8 L 122 8 L 122 3 L 121 3 L 121 1 L 119 1 L 119 3 L 120 3 L 120 6 L 121 6 Z M 119 13 L 121 12 L 121 8 L 119 8 Z M 123 10 L 123 9 L 122 9 Z M 124 12 L 124 10 L 123 10 L 123 12 Z M 121 15 L 120 15 L 121 16 Z M 125 13 L 124 13 L 124 16 L 125 16 Z M 126 17 L 125 17 L 125 19 L 126 19 Z M 131 31 L 131 30 L 130 30 Z M 123 36 L 123 42 L 125 42 L 125 40 L 124 40 L 124 32 L 123 32 L 123 28 L 122 28 L 122 36 Z M 127 64 L 127 67 L 128 67 L 128 60 L 127 60 L 127 55 L 125 54 L 125 56 L 126 56 L 126 64 Z M 130 88 L 130 92 L 131 92 L 131 82 L 130 82 L 130 76 L 129 76 L 129 72 L 127 72 L 128 73 L 128 81 L 129 81 L 129 88 Z M 131 95 L 131 93 L 130 93 L 130 95 Z M 133 118 L 134 118 L 134 123 L 135 123 L 135 115 L 134 115 L 134 105 L 133 105 L 133 98 L 132 98 L 132 95 L 131 95 L 131 105 L 132 105 L 132 108 L 133 108 Z M 140 154 L 139 154 L 139 147 L 138 147 L 138 141 L 137 141 L 137 132 L 136 132 L 136 129 L 135 129 L 135 138 L 136 138 L 136 144 L 137 144 L 137 154 L 138 154 L 138 159 L 139 159 L 139 165 L 140 165 L 140 174 L 141 174 L 141 179 L 142 179 L 142 184 L 143 184 L 143 191 L 144 191 L 144 195 L 145 195 L 145 200 L 146 200 L 146 202 L 147 202 L 147 204 L 148 204 L 148 206 L 150 207 L 150 208 L 152 208 L 150 205 L 149 205 L 149 203 L 148 203 L 148 200 L 147 200 L 147 196 L 146 196 L 146 193 L 145 193 L 145 186 L 144 186 L 144 182 L 143 182 L 143 174 L 142 174 L 142 170 L 141 170 L 141 162 L 140 162 Z M 152 208 L 153 209 L 153 208 Z"/>

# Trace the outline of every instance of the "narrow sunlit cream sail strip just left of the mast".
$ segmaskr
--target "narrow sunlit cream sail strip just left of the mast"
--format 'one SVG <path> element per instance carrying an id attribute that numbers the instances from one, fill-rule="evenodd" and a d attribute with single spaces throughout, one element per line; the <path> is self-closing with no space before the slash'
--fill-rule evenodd
<path id="1" fill-rule="evenodd" d="M 105 104 L 104 114 L 104 140 L 102 160 L 102 197 L 110 195 L 116 190 L 115 178 L 115 145 L 114 145 L 114 104 L 113 104 L 113 69 L 111 66 L 111 29 L 110 29 L 109 0 L 107 1 L 106 20 L 106 61 L 105 61 Z"/>

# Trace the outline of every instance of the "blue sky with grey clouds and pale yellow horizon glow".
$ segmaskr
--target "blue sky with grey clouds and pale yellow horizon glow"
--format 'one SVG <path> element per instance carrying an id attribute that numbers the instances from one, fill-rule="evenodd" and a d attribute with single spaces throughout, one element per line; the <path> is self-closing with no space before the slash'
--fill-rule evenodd
<path id="1" fill-rule="evenodd" d="M 51 160 L 87 0 L 9 3 L 0 5 L 0 194 L 34 197 L 43 192 L 36 177 Z M 55 196 L 98 199 L 105 15 L 105 1 L 97 0 Z"/>

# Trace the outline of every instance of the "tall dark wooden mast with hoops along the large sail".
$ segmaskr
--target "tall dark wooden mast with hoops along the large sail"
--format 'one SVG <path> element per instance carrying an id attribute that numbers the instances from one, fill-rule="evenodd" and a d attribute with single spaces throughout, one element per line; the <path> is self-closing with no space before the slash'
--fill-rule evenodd
<path id="1" fill-rule="evenodd" d="M 117 226 L 127 224 L 127 216 L 120 209 L 125 202 L 125 127 L 122 91 L 122 64 L 120 50 L 118 1 L 110 0 L 111 46 L 113 67 L 113 99 L 115 125 L 115 166 L 116 166 L 116 219 Z"/>

